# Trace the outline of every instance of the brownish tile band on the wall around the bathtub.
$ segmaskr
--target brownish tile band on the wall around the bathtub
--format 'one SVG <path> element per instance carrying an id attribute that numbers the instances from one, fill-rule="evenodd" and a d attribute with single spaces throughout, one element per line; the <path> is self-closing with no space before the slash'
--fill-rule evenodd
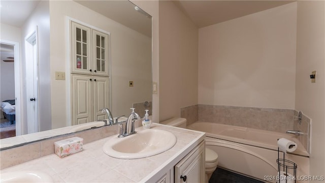
<path id="1" fill-rule="evenodd" d="M 299 124 L 296 110 L 199 104 L 181 108 L 181 117 L 187 119 L 186 125 L 204 121 L 280 133 L 285 133 L 287 130 L 300 130 L 305 134 L 297 138 L 310 152 L 308 134 L 310 136 L 311 120 L 303 115 L 302 123 Z"/>

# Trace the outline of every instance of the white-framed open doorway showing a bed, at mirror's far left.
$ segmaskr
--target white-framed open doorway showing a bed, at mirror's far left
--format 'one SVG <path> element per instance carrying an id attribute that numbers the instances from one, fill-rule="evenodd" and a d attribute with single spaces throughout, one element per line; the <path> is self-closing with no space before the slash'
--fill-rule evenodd
<path id="1" fill-rule="evenodd" d="M 0 40 L 1 138 L 21 135 L 19 43 Z M 5 101 L 5 102 L 3 102 Z"/>

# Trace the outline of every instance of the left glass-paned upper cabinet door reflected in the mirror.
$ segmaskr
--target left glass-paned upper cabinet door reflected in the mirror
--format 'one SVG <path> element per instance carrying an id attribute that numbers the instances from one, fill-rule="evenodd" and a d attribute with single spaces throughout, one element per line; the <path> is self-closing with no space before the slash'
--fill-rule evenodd
<path id="1" fill-rule="evenodd" d="M 91 29 L 89 27 L 71 22 L 71 59 L 72 59 L 72 72 L 91 74 L 92 65 L 90 56 L 91 46 Z"/>

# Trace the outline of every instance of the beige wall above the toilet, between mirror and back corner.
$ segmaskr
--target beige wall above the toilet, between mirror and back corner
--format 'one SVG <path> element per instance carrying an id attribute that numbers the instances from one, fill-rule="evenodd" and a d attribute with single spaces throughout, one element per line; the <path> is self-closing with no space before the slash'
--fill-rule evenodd
<path id="1" fill-rule="evenodd" d="M 198 104 L 198 28 L 170 1 L 159 1 L 159 120 Z"/>

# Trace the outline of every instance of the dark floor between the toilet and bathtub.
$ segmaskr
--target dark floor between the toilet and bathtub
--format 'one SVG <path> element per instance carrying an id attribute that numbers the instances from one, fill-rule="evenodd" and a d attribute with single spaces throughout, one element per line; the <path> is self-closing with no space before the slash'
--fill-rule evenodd
<path id="1" fill-rule="evenodd" d="M 227 171 L 221 168 L 217 168 L 211 178 L 209 183 L 264 183 L 244 175 L 240 175 L 231 171 Z"/>

